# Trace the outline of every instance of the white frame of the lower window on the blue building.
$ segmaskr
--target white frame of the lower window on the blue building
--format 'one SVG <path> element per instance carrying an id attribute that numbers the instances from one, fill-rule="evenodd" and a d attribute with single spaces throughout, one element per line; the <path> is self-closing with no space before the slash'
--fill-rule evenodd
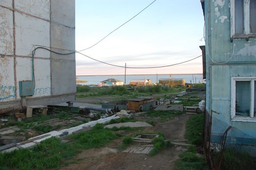
<path id="1" fill-rule="evenodd" d="M 236 82 L 237 81 L 251 81 L 250 117 L 236 116 Z M 254 117 L 254 107 L 256 107 L 254 105 L 255 81 L 256 81 L 256 77 L 231 77 L 231 120 L 232 121 L 256 122 L 256 117 Z"/>

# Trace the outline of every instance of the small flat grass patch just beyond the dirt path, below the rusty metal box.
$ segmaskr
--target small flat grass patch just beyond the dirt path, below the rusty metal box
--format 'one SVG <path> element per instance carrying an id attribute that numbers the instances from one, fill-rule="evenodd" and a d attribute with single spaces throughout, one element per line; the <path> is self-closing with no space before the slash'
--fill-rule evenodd
<path id="1" fill-rule="evenodd" d="M 149 110 L 145 113 L 147 117 L 151 118 L 160 118 L 159 120 L 161 122 L 173 119 L 177 115 L 181 115 L 183 112 L 181 111 L 176 111 L 176 110 Z"/>

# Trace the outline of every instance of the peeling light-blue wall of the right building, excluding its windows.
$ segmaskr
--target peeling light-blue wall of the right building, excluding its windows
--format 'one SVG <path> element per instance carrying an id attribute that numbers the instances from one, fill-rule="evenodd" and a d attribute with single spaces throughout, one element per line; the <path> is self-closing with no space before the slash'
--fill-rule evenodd
<path id="1" fill-rule="evenodd" d="M 256 37 L 231 38 L 229 0 L 205 0 L 206 108 L 213 114 L 212 139 L 218 142 L 228 126 L 232 142 L 256 138 L 256 122 L 231 119 L 231 77 L 256 76 Z M 215 62 L 224 63 L 216 64 Z M 226 62 L 226 63 L 225 63 Z M 218 136 L 218 137 L 217 137 Z M 237 140 L 237 141 L 236 141 Z M 246 140 L 244 140 L 245 142 Z"/>

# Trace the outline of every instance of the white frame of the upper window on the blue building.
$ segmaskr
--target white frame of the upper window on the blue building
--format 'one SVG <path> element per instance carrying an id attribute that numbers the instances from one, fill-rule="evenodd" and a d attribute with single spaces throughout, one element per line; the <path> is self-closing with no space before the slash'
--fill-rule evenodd
<path id="1" fill-rule="evenodd" d="M 230 36 L 231 38 L 256 37 L 256 33 L 250 33 L 250 0 L 243 0 L 244 33 L 236 34 L 235 31 L 235 0 L 230 0 Z"/>

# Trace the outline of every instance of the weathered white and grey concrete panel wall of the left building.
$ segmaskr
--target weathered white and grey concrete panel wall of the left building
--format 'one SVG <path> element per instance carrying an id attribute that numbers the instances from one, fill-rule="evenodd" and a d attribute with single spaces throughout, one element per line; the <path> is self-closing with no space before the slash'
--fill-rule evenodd
<path id="1" fill-rule="evenodd" d="M 74 0 L 0 0 L 0 113 L 24 105 L 18 82 L 32 80 L 34 45 L 75 50 L 74 3 Z M 74 100 L 75 54 L 58 55 L 38 49 L 34 67 L 34 95 L 22 99 L 27 105 Z"/>

